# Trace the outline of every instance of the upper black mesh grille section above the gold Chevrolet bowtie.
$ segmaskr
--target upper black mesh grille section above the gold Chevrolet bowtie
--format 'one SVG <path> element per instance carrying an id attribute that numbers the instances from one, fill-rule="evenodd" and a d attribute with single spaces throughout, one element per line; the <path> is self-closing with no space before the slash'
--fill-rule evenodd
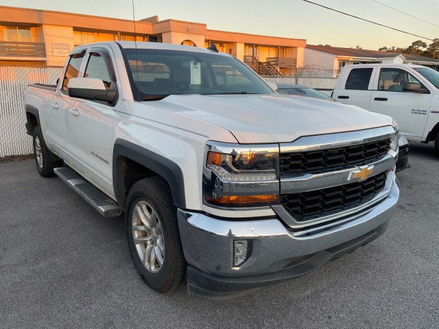
<path id="1" fill-rule="evenodd" d="M 391 143 L 391 139 L 388 138 L 347 147 L 282 153 L 281 178 L 306 173 L 325 173 L 368 164 L 388 154 Z"/>

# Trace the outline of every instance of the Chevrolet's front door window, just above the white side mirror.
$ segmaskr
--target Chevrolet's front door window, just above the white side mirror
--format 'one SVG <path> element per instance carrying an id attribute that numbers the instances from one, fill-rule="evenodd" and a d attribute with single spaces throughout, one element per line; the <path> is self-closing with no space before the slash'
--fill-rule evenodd
<path id="1" fill-rule="evenodd" d="M 113 69 L 111 58 L 104 50 L 91 50 L 90 58 L 84 71 L 84 77 L 93 77 L 102 80 L 106 89 L 110 89 L 112 82 L 115 82 L 115 71 Z"/>

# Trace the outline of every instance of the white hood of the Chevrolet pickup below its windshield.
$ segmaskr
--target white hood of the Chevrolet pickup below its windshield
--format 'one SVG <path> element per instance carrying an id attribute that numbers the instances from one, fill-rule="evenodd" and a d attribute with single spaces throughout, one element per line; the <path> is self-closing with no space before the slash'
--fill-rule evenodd
<path id="1" fill-rule="evenodd" d="M 288 143 L 300 136 L 392 124 L 390 117 L 357 106 L 276 94 L 171 95 L 154 106 L 229 130 L 239 143 Z"/>

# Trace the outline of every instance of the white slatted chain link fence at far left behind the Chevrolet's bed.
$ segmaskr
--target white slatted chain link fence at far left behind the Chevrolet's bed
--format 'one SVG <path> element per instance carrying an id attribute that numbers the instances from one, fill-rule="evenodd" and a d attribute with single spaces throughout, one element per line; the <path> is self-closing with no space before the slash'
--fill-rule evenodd
<path id="1" fill-rule="evenodd" d="M 31 154 L 32 138 L 25 129 L 27 84 L 56 84 L 59 67 L 0 66 L 0 158 Z"/>

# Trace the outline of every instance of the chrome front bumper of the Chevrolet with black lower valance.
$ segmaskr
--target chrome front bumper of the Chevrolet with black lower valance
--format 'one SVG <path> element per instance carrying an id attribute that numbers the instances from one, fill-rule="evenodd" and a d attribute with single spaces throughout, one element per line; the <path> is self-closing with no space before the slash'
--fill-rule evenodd
<path id="1" fill-rule="evenodd" d="M 399 187 L 394 177 L 392 180 L 390 193 L 375 206 L 351 214 L 333 229 L 309 236 L 295 236 L 276 217 L 226 220 L 178 210 L 182 246 L 189 264 L 189 291 L 211 299 L 232 297 L 300 276 L 377 239 L 396 210 Z M 233 267 L 236 240 L 252 240 L 252 254 L 240 267 Z M 296 262 L 301 257 L 303 261 Z M 292 266 L 294 263 L 300 266 Z"/>

